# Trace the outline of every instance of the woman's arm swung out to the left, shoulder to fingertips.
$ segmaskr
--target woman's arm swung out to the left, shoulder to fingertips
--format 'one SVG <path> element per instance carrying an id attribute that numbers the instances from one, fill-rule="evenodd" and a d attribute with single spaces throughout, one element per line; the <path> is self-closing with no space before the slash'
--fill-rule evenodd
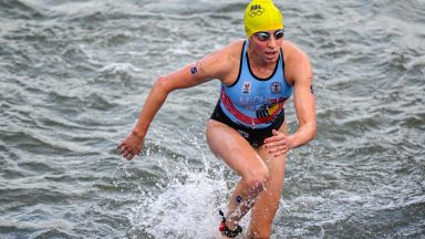
<path id="1" fill-rule="evenodd" d="M 177 89 L 187 89 L 212 79 L 225 81 L 231 74 L 235 43 L 218 50 L 196 63 L 158 77 L 142 108 L 137 124 L 118 145 L 121 154 L 128 160 L 138 155 L 144 145 L 147 129 L 168 94 Z"/>

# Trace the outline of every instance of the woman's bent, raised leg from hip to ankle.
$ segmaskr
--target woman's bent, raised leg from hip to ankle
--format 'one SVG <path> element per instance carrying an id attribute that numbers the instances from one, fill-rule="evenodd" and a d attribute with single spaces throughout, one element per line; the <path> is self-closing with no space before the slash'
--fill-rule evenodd
<path id="1" fill-rule="evenodd" d="M 269 170 L 252 146 L 238 132 L 222 123 L 212 119 L 208 122 L 207 142 L 212 153 L 242 177 L 228 205 L 226 225 L 234 230 L 263 189 Z M 238 196 L 243 202 L 236 201 Z"/>

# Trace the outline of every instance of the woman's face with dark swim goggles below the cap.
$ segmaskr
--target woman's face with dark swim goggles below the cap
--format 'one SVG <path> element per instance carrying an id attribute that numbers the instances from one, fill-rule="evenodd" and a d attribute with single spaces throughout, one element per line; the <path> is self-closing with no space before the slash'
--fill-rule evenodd
<path id="1" fill-rule="evenodd" d="M 266 62 L 276 62 L 279 59 L 283 35 L 283 29 L 253 33 L 249 40 L 255 55 Z"/>

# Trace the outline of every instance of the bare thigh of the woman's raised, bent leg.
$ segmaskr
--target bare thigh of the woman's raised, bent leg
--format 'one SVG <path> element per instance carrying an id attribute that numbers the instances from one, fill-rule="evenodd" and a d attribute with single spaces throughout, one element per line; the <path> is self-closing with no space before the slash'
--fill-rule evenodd
<path id="1" fill-rule="evenodd" d="M 207 124 L 207 142 L 211 152 L 242 177 L 253 168 L 267 169 L 257 150 L 226 124 L 210 119 Z"/>

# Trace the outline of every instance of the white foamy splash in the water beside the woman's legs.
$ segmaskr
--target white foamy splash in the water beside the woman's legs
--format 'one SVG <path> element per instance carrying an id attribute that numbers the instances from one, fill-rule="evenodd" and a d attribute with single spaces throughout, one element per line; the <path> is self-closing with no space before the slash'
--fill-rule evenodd
<path id="1" fill-rule="evenodd" d="M 224 177 L 207 172 L 183 172 L 162 194 L 144 195 L 129 217 L 133 226 L 155 238 L 217 238 L 228 190 Z"/>

